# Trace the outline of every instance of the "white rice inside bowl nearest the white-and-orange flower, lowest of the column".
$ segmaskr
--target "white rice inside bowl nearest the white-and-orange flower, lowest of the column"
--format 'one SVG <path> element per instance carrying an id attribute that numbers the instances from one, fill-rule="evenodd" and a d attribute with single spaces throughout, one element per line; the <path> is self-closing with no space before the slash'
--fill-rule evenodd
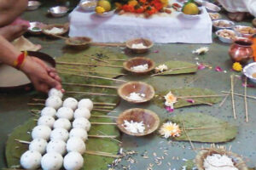
<path id="1" fill-rule="evenodd" d="M 145 125 L 143 122 L 128 122 L 125 120 L 122 126 L 125 127 L 125 130 L 130 133 L 143 133 L 145 130 Z"/>

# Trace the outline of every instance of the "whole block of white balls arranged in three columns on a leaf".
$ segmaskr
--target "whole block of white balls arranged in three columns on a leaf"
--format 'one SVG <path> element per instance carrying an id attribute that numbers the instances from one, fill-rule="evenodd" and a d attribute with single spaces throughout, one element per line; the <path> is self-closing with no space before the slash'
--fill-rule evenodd
<path id="1" fill-rule="evenodd" d="M 62 94 L 60 97 L 62 97 Z M 93 103 L 90 99 L 82 99 L 78 102 L 76 99 L 67 98 L 63 102 L 65 107 L 61 107 L 56 112 L 54 108 L 49 107 L 49 100 L 57 99 L 60 101 L 60 97 L 49 95 L 49 98 L 46 100 L 48 107 L 41 111 L 38 126 L 32 130 L 33 140 L 29 145 L 29 150 L 20 158 L 22 167 L 36 169 L 41 164 L 43 169 L 60 169 L 63 164 L 62 156 L 66 153 L 66 150 L 68 152 L 64 157 L 64 167 L 66 169 L 75 170 L 83 166 L 84 159 L 81 154 L 84 154 L 85 151 L 84 141 L 88 139 L 86 131 L 90 130 L 90 122 L 87 119 L 90 118 Z M 58 107 L 55 105 L 55 108 Z M 79 108 L 76 109 L 77 107 Z M 75 110 L 74 113 L 73 110 Z M 56 121 L 55 116 L 59 118 Z M 68 134 L 67 131 L 71 128 L 70 121 L 73 119 L 73 116 L 75 117 L 73 129 Z M 51 131 L 51 127 L 55 129 Z M 47 144 L 49 139 L 49 144 Z M 65 143 L 66 141 L 67 144 Z M 47 154 L 42 157 L 41 154 L 44 154 L 45 151 L 47 151 Z"/>

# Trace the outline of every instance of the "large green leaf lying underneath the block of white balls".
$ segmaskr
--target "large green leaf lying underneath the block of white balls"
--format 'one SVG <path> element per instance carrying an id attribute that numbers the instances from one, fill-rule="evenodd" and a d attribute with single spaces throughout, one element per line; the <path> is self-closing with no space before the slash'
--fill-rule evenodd
<path id="1" fill-rule="evenodd" d="M 95 112 L 93 115 L 102 115 L 102 113 Z M 109 118 L 91 117 L 90 122 L 113 122 Z M 23 125 L 16 127 L 13 133 L 9 135 L 9 139 L 6 143 L 6 160 L 8 167 L 20 165 L 20 156 L 28 150 L 28 144 L 20 144 L 15 139 L 31 141 L 32 128 L 36 126 L 34 117 L 29 119 Z M 93 125 L 89 134 L 99 135 L 116 135 L 119 138 L 119 130 L 113 125 Z M 119 144 L 113 139 L 93 139 L 90 138 L 86 141 L 86 150 L 103 151 L 108 153 L 117 154 L 119 150 Z M 108 167 L 109 163 L 112 163 L 113 158 L 104 156 L 93 156 L 84 154 L 84 167 L 83 169 L 102 170 Z"/>

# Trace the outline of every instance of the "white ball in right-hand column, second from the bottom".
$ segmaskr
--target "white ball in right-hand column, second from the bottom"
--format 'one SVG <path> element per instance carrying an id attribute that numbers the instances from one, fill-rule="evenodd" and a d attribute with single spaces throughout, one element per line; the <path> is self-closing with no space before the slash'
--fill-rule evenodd
<path id="1" fill-rule="evenodd" d="M 67 151 L 77 151 L 80 154 L 84 154 L 86 150 L 84 141 L 79 138 L 70 138 L 67 140 Z"/>

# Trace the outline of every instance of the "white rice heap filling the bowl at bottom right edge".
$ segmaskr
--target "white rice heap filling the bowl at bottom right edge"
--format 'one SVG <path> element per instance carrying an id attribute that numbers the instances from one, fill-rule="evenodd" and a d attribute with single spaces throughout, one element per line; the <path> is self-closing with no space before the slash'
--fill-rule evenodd
<path id="1" fill-rule="evenodd" d="M 204 161 L 205 170 L 238 170 L 232 159 L 226 155 L 213 154 Z"/>

